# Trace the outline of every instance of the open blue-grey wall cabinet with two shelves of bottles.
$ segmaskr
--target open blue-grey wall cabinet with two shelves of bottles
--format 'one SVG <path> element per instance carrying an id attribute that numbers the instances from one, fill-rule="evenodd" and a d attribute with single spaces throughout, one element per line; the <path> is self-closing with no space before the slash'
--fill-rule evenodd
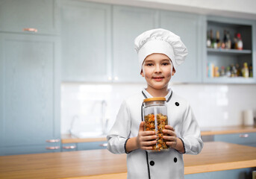
<path id="1" fill-rule="evenodd" d="M 255 22 L 209 16 L 205 26 L 204 82 L 255 83 Z"/>

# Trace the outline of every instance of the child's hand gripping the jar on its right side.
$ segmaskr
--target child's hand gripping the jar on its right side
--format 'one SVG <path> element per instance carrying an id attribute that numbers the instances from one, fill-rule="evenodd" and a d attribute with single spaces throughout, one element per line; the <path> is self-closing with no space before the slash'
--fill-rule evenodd
<path id="1" fill-rule="evenodd" d="M 163 136 L 163 139 L 166 139 L 166 145 L 169 145 L 171 148 L 184 153 L 184 145 L 180 138 L 178 138 L 175 134 L 175 129 L 170 125 L 166 125 L 163 130 L 164 134 L 168 134 L 168 136 Z"/>

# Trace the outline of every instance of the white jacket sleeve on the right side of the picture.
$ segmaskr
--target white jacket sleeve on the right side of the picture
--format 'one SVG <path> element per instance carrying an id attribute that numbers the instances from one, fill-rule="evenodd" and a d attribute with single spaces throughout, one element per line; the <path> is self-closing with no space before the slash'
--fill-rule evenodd
<path id="1" fill-rule="evenodd" d="M 204 143 L 201 139 L 201 131 L 190 104 L 187 104 L 187 109 L 184 113 L 181 139 L 184 142 L 186 154 L 199 154 L 202 151 Z"/>

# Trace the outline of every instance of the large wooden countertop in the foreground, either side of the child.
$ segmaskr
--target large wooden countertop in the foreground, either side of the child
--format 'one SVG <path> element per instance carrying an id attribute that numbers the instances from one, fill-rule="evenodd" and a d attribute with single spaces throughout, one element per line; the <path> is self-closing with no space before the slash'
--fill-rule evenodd
<path id="1" fill-rule="evenodd" d="M 185 175 L 256 166 L 256 148 L 205 142 L 199 155 L 184 154 Z M 0 157 L 0 178 L 126 178 L 126 154 L 106 149 Z"/>

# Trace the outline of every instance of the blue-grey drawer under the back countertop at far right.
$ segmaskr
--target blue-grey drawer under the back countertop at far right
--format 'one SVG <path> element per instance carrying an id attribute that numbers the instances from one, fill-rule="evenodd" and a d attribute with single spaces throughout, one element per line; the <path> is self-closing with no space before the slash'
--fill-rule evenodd
<path id="1" fill-rule="evenodd" d="M 215 135 L 214 141 L 222 141 L 242 145 L 254 145 L 256 144 L 256 133 Z"/>

